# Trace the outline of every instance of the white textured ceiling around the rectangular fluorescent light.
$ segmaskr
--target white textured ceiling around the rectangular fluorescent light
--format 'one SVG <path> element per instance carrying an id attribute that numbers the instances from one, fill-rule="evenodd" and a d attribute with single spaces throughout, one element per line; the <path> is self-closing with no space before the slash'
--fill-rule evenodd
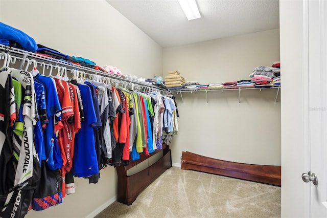
<path id="1" fill-rule="evenodd" d="M 190 21 L 177 0 L 106 1 L 164 48 L 279 28 L 278 0 L 197 0 Z"/>

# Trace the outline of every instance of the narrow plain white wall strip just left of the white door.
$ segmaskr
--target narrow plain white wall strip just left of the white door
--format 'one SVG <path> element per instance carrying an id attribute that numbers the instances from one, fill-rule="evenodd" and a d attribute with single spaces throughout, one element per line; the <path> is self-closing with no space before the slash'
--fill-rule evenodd
<path id="1" fill-rule="evenodd" d="M 281 62 L 283 92 L 282 127 L 282 217 L 308 217 L 305 187 L 300 175 L 305 167 L 303 142 L 303 51 L 302 1 L 280 1 Z M 290 10 L 291 9 L 291 10 Z"/>

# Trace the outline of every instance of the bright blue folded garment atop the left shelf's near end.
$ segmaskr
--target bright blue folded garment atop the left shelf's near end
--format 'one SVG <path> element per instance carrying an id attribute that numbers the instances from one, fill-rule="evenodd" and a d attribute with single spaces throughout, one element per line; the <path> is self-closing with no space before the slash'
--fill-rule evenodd
<path id="1" fill-rule="evenodd" d="M 11 41 L 19 44 L 18 47 L 21 47 L 24 50 L 36 52 L 37 45 L 34 38 L 21 30 L 0 22 L 0 43 L 10 46 Z"/>

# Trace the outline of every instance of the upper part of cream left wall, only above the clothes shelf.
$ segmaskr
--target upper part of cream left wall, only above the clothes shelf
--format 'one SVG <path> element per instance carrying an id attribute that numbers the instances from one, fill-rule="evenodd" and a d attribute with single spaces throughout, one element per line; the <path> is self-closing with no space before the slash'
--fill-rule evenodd
<path id="1" fill-rule="evenodd" d="M 99 66 L 147 78 L 162 72 L 161 47 L 104 0 L 1 0 L 0 17 L 41 45 Z"/>

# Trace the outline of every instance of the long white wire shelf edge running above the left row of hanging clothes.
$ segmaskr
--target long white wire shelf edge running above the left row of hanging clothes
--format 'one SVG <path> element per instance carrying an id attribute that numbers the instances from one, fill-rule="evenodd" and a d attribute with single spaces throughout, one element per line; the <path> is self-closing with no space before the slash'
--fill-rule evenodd
<path id="1" fill-rule="evenodd" d="M 79 65 L 74 64 L 74 63 L 58 60 L 58 59 L 51 58 L 51 57 L 46 57 L 46 56 L 43 56 L 43 55 L 35 54 L 33 52 L 28 52 L 28 51 L 25 51 L 25 50 L 9 47 L 9 46 L 5 46 L 5 45 L 0 45 L 0 51 L 8 53 L 11 56 L 20 55 L 20 56 L 23 56 L 23 57 L 25 56 L 26 58 L 29 58 L 29 59 L 41 60 L 41 61 L 43 61 L 45 63 L 52 63 L 52 64 L 56 63 L 59 66 L 65 66 L 67 69 L 71 69 L 71 70 L 79 69 L 79 70 L 86 71 L 86 72 L 92 72 L 92 74 L 98 74 L 98 75 L 113 78 L 113 79 L 116 79 L 116 80 L 121 80 L 121 81 L 131 82 L 131 83 L 134 83 L 134 84 L 137 84 L 137 85 L 151 87 L 151 88 L 157 89 L 159 91 L 165 91 L 165 89 L 162 89 L 162 88 L 160 88 L 160 87 L 158 87 L 156 85 L 153 85 L 153 84 L 148 84 L 148 83 L 145 83 L 145 82 L 142 82 L 142 81 L 138 81 L 138 80 L 134 80 L 134 79 L 130 79 L 130 78 L 125 78 L 125 77 L 118 76 L 118 75 L 113 75 L 113 74 L 110 74 L 110 73 L 105 73 L 105 72 L 94 70 L 94 69 L 91 69 L 91 68 L 79 66 Z M 13 53 L 13 54 L 11 54 L 11 53 Z"/>

